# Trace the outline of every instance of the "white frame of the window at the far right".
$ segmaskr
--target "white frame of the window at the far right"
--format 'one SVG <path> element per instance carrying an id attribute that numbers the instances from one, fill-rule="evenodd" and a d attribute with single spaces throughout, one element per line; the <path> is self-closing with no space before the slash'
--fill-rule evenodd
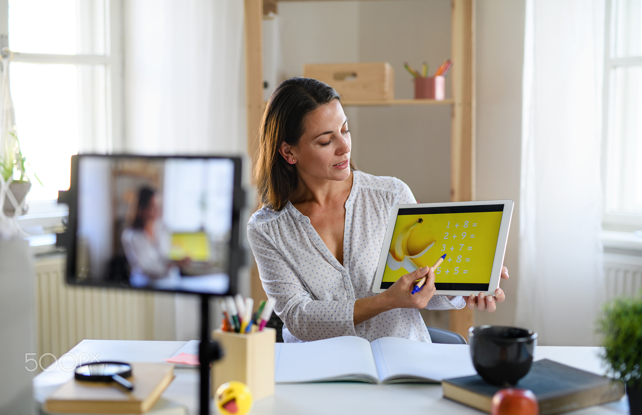
<path id="1" fill-rule="evenodd" d="M 642 212 L 623 212 L 611 210 L 608 204 L 611 194 L 611 171 L 610 160 L 612 157 L 612 142 L 609 137 L 611 126 L 611 94 L 612 94 L 612 70 L 617 67 L 642 67 L 642 56 L 627 58 L 614 58 L 611 51 L 614 49 L 614 38 L 612 28 L 614 26 L 614 1 L 605 1 L 605 30 L 604 30 L 604 56 L 603 56 L 603 90 L 602 90 L 602 191 L 604 195 L 602 226 L 606 230 L 621 232 L 634 232 L 642 229 Z M 616 157 L 621 157 L 617 155 Z"/>

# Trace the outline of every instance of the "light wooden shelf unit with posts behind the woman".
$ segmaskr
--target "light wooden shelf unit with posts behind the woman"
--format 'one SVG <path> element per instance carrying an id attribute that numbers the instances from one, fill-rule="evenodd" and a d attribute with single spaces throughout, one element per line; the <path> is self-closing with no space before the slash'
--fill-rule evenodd
<path id="1" fill-rule="evenodd" d="M 245 1 L 245 85 L 247 94 L 247 148 L 250 158 L 258 148 L 259 126 L 263 104 L 263 15 L 277 13 L 279 1 Z M 299 0 L 304 1 L 304 0 Z M 444 101 L 429 99 L 394 99 L 392 101 L 352 101 L 345 105 L 453 105 L 451 119 L 451 201 L 475 199 L 475 1 L 451 0 L 451 70 L 453 98 Z M 250 273 L 255 301 L 265 298 L 256 265 Z M 474 325 L 474 311 L 451 310 L 449 328 L 464 337 Z"/>

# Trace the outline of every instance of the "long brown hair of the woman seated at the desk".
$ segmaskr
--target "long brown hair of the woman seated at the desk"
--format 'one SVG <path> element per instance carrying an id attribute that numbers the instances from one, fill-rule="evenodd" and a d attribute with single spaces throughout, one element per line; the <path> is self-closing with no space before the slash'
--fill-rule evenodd
<path id="1" fill-rule="evenodd" d="M 297 167 L 281 157 L 281 143 L 299 144 L 306 116 L 333 99 L 341 102 L 333 87 L 311 78 L 290 78 L 272 92 L 261 120 L 254 170 L 254 185 L 266 207 L 282 210 L 297 187 Z M 357 169 L 352 158 L 350 168 Z"/>

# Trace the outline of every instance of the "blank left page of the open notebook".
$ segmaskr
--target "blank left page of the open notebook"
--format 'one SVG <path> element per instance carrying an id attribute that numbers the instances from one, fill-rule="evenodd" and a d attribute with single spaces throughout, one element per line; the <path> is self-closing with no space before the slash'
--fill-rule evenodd
<path id="1" fill-rule="evenodd" d="M 370 343 L 361 337 L 277 343 L 274 355 L 277 383 L 379 379 Z"/>

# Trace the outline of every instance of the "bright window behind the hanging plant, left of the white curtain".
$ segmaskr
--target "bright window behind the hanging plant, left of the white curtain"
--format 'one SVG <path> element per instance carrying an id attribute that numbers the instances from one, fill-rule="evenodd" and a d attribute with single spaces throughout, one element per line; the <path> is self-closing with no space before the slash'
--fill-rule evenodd
<path id="1" fill-rule="evenodd" d="M 13 52 L 10 87 L 18 139 L 31 171 L 29 233 L 61 216 L 71 155 L 109 153 L 121 140 L 119 0 L 0 0 L 3 45 Z M 1 19 L 2 17 L 0 17 Z M 42 183 L 42 184 L 41 184 Z M 58 211 L 58 212 L 56 212 Z M 55 221 L 54 221 L 55 222 Z M 59 223 L 59 221 L 58 221 Z M 31 230 L 31 232 L 30 232 Z M 46 229 L 45 229 L 46 231 Z"/>

